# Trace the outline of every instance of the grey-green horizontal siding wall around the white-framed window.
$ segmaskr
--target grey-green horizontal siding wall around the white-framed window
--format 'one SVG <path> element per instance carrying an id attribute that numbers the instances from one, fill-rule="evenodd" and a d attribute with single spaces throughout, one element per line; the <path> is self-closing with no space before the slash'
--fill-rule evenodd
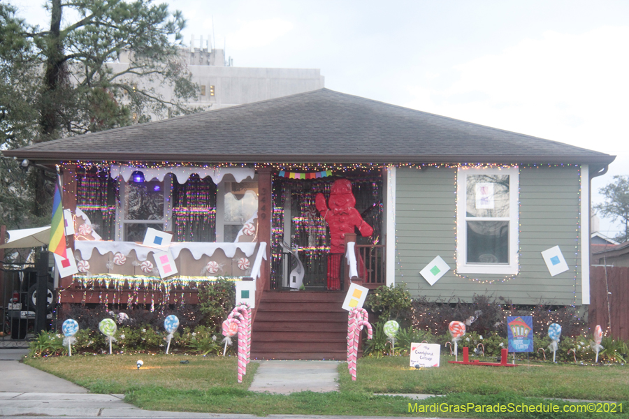
<path id="1" fill-rule="evenodd" d="M 396 284 L 405 282 L 412 295 L 431 300 L 471 301 L 475 294 L 488 294 L 515 304 L 581 304 L 577 168 L 520 169 L 520 270 L 505 282 L 500 281 L 505 275 L 461 278 L 454 274 L 456 169 L 398 168 L 396 172 Z M 557 245 L 570 270 L 551 277 L 540 252 Z M 431 286 L 419 271 L 435 256 L 441 256 L 451 270 Z M 471 278 L 498 281 L 480 284 Z"/>

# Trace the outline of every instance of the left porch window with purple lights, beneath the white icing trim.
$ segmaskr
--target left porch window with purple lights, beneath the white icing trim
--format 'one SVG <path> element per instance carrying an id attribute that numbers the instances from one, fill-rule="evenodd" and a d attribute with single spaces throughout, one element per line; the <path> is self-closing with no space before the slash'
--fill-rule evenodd
<path id="1" fill-rule="evenodd" d="M 166 216 L 170 205 L 170 176 L 161 182 L 157 179 L 147 181 L 142 172 L 134 172 L 129 182 L 120 185 L 117 240 L 143 242 L 147 228 L 170 230 Z"/>

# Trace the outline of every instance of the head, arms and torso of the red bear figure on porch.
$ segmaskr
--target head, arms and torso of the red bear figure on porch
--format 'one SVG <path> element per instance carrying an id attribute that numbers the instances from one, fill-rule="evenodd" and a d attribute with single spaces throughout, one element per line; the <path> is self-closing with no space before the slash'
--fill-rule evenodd
<path id="1" fill-rule="evenodd" d="M 315 205 L 330 226 L 330 253 L 345 253 L 345 233 L 354 233 L 354 228 L 358 228 L 363 237 L 373 233 L 373 228 L 354 208 L 356 198 L 352 193 L 352 183 L 347 179 L 338 179 L 332 184 L 329 209 L 323 193 L 317 193 Z"/>

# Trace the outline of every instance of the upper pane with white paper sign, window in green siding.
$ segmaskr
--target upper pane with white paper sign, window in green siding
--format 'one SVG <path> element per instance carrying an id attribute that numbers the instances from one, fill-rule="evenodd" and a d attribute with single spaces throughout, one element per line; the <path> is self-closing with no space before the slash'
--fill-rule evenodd
<path id="1" fill-rule="evenodd" d="M 468 175 L 467 216 L 509 216 L 509 175 Z"/>

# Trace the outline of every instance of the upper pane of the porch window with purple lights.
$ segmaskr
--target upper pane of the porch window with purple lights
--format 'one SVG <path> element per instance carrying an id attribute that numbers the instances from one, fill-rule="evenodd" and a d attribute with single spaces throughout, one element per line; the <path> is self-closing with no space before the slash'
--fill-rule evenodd
<path id="1" fill-rule="evenodd" d="M 164 219 L 164 182 L 129 182 L 124 207 L 127 220 Z"/>

